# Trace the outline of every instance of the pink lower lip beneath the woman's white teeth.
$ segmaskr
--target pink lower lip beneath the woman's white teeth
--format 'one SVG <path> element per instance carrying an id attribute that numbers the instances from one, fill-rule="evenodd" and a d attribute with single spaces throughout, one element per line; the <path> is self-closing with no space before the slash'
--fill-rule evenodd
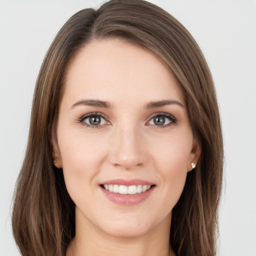
<path id="1" fill-rule="evenodd" d="M 119 193 L 109 192 L 108 190 L 100 186 L 101 190 L 110 201 L 117 204 L 123 204 L 123 205 L 135 205 L 144 201 L 146 198 L 148 198 L 151 195 L 154 187 L 155 186 L 152 186 L 149 190 L 141 193 L 119 194 Z"/>

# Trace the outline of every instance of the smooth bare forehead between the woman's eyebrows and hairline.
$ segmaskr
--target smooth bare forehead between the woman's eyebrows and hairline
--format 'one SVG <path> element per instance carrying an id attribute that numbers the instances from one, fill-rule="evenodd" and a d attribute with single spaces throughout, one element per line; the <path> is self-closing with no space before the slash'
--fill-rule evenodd
<path id="1" fill-rule="evenodd" d="M 141 102 L 177 99 L 183 94 L 170 68 L 149 50 L 120 39 L 92 41 L 75 55 L 65 72 L 64 98 Z M 143 101 L 143 102 L 144 102 Z"/>

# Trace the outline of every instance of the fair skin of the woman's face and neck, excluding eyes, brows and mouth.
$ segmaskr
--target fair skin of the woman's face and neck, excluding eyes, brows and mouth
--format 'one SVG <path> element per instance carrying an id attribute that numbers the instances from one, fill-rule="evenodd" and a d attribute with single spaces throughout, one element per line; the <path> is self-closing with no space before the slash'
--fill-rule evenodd
<path id="1" fill-rule="evenodd" d="M 175 76 L 147 49 L 108 39 L 84 46 L 65 78 L 53 153 L 76 205 L 76 234 L 66 255 L 171 255 L 171 209 L 200 154 Z M 77 103 L 84 99 L 111 107 Z M 145 107 L 161 100 L 176 103 Z M 105 116 L 97 127 L 81 121 L 91 112 Z M 156 125 L 159 113 L 176 122 L 165 117 Z M 138 204 L 117 204 L 99 186 L 115 178 L 145 179 L 155 187 Z"/>

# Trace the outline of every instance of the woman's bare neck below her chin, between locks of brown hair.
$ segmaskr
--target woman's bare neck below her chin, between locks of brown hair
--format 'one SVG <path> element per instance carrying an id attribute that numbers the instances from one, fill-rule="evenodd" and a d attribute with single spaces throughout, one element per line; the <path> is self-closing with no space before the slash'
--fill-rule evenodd
<path id="1" fill-rule="evenodd" d="M 174 256 L 169 246 L 170 217 L 171 214 L 156 227 L 136 237 L 116 237 L 88 220 L 76 222 L 75 237 L 68 245 L 66 256 Z"/>

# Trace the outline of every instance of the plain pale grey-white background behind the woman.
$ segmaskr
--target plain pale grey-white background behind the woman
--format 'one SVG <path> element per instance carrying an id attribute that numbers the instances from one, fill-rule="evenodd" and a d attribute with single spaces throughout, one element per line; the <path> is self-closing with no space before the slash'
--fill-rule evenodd
<path id="1" fill-rule="evenodd" d="M 0 0 L 0 256 L 19 255 L 11 234 L 11 198 L 42 59 L 73 13 L 101 2 Z M 256 256 L 256 1 L 151 2 L 191 32 L 215 81 L 225 146 L 219 255 Z"/>

